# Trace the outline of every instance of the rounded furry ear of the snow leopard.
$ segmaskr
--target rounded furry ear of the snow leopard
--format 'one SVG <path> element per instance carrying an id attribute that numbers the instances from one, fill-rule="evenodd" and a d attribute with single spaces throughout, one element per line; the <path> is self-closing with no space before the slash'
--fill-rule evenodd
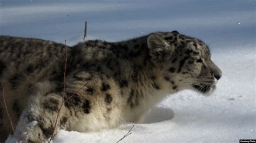
<path id="1" fill-rule="evenodd" d="M 172 45 L 155 33 L 147 37 L 147 47 L 149 47 L 149 54 L 153 63 L 164 61 L 174 51 Z"/>

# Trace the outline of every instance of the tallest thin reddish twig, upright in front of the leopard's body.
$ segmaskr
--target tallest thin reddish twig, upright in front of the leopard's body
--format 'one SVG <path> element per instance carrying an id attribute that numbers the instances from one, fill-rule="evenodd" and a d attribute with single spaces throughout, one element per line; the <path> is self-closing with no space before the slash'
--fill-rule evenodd
<path id="1" fill-rule="evenodd" d="M 62 97 L 62 104 L 60 104 L 60 108 L 59 108 L 58 113 L 57 113 L 55 125 L 54 125 L 54 127 L 53 127 L 53 132 L 52 132 L 50 141 L 48 141 L 48 142 L 51 142 L 51 140 L 52 140 L 52 138 L 53 138 L 53 135 L 54 135 L 54 132 L 55 132 L 55 128 L 56 128 L 56 125 L 57 125 L 57 121 L 58 121 L 58 117 L 59 117 L 59 113 L 60 113 L 60 110 L 62 109 L 62 106 L 63 106 L 63 103 L 64 103 L 65 87 L 66 87 L 66 66 L 67 66 L 67 61 L 68 61 L 68 48 L 66 47 L 66 40 L 65 40 L 65 68 L 64 68 L 64 77 L 63 77 L 63 95 L 62 95 L 63 97 Z"/>

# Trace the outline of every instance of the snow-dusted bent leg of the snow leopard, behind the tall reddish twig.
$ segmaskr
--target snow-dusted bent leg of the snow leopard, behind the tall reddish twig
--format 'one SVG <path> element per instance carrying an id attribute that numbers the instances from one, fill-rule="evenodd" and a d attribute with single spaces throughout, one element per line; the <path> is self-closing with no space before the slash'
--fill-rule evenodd
<path id="1" fill-rule="evenodd" d="M 23 111 L 16 127 L 18 139 L 24 139 L 25 142 L 47 141 L 52 134 L 55 135 L 69 124 L 70 110 L 63 104 L 54 128 L 63 100 L 61 87 L 57 91 L 56 85 L 51 82 L 38 83 L 37 87 L 38 90 L 29 98 L 28 108 Z"/>

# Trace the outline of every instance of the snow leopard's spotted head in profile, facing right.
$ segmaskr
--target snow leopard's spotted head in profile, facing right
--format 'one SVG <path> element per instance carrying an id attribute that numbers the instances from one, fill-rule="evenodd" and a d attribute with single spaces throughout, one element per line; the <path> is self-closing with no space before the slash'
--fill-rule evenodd
<path id="1" fill-rule="evenodd" d="M 177 31 L 157 32 L 147 37 L 147 46 L 152 63 L 161 69 L 165 89 L 215 89 L 222 74 L 203 41 Z"/>

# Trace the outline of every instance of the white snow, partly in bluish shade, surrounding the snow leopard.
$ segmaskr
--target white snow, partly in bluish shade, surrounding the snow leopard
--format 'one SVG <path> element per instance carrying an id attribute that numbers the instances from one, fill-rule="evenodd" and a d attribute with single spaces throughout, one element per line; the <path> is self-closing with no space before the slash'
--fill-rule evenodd
<path id="1" fill-rule="evenodd" d="M 60 131 L 53 142 L 238 142 L 256 138 L 255 0 L 2 0 L 0 34 L 69 45 L 86 39 L 119 41 L 178 30 L 206 42 L 223 71 L 211 96 L 170 95 L 143 124 L 79 133 Z M 10 141 L 11 142 L 11 141 Z"/>

